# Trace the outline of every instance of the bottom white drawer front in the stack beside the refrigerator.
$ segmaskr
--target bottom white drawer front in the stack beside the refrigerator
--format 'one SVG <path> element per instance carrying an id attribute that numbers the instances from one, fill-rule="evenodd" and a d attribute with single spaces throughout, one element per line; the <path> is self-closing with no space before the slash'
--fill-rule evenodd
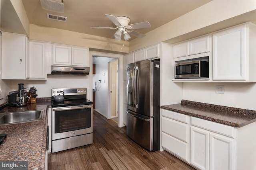
<path id="1" fill-rule="evenodd" d="M 179 156 L 180 158 L 188 162 L 188 158 L 189 158 L 188 143 L 184 143 L 162 132 L 162 147 L 165 150 L 172 152 L 173 154 Z"/>

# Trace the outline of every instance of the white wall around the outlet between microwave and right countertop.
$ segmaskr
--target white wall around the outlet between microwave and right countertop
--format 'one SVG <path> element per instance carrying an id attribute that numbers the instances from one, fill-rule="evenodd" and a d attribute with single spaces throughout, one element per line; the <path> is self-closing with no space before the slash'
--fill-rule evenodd
<path id="1" fill-rule="evenodd" d="M 224 85 L 225 93 L 216 94 L 215 86 Z M 256 110 L 255 83 L 183 83 L 184 100 Z"/>

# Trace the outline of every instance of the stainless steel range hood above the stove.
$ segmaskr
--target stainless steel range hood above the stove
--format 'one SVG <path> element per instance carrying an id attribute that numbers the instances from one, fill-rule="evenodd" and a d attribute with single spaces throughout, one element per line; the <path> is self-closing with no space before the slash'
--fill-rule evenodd
<path id="1" fill-rule="evenodd" d="M 52 75 L 88 75 L 89 67 L 52 66 Z"/>

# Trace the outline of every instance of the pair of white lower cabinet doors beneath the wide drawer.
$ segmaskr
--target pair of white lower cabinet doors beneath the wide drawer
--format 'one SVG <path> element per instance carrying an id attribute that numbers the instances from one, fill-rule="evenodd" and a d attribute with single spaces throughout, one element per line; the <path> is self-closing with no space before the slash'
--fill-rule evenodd
<path id="1" fill-rule="evenodd" d="M 232 170 L 234 139 L 191 126 L 190 163 L 201 170 Z"/>

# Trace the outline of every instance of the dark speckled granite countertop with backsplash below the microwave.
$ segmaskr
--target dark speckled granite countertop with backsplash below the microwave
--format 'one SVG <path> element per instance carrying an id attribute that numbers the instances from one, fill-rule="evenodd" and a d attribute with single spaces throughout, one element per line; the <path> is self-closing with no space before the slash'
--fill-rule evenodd
<path id="1" fill-rule="evenodd" d="M 256 121 L 256 111 L 254 110 L 188 100 L 182 100 L 180 104 L 161 106 L 161 108 L 232 127 L 243 127 Z"/>

